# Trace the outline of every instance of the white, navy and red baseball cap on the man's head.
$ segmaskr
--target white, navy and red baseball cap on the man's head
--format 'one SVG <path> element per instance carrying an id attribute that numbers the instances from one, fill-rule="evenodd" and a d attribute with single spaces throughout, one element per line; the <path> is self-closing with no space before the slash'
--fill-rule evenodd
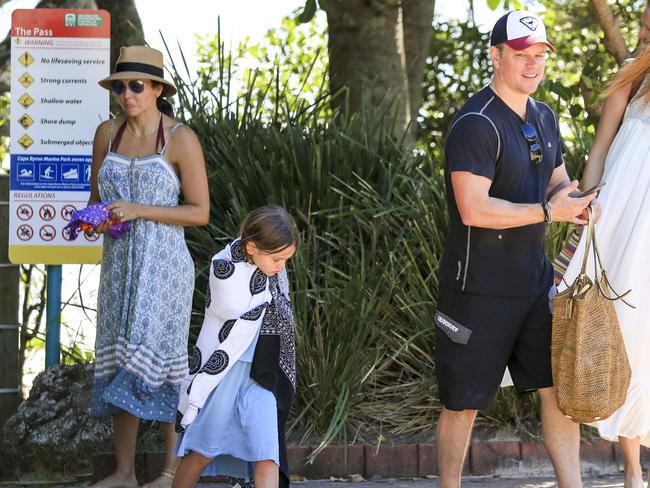
<path id="1" fill-rule="evenodd" d="M 542 19 L 525 10 L 513 10 L 496 21 L 490 36 L 490 46 L 503 42 L 515 51 L 542 43 L 555 52 L 553 44 L 546 39 L 546 27 Z"/>

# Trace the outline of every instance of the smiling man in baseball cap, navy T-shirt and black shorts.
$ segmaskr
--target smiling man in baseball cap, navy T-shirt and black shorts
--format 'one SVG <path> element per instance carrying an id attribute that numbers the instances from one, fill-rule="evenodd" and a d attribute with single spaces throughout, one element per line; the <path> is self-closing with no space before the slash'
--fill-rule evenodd
<path id="1" fill-rule="evenodd" d="M 449 208 L 440 261 L 436 373 L 440 487 L 460 486 L 478 410 L 506 367 L 520 393 L 539 391 L 544 441 L 561 488 L 582 486 L 578 425 L 557 407 L 551 376 L 546 225 L 584 224 L 593 195 L 572 198 L 557 118 L 530 97 L 544 74 L 542 19 L 508 12 L 492 30 L 494 76 L 456 114 L 445 141 Z"/>

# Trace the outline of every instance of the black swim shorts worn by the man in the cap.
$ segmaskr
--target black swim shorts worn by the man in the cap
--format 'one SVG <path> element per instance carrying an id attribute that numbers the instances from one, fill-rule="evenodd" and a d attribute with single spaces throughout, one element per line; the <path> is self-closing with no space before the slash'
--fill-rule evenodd
<path id="1" fill-rule="evenodd" d="M 548 294 L 501 297 L 441 287 L 434 320 L 438 389 L 447 409 L 487 407 L 506 366 L 520 393 L 553 385 Z"/>

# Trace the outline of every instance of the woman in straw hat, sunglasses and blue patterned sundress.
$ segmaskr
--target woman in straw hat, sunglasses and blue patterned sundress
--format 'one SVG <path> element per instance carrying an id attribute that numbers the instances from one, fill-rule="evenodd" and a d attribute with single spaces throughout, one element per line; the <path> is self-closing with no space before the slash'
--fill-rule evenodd
<path id="1" fill-rule="evenodd" d="M 177 462 L 173 422 L 194 290 L 183 227 L 206 224 L 210 204 L 196 135 L 162 113 L 171 108 L 162 97 L 176 92 L 163 76 L 160 51 L 132 46 L 99 82 L 124 115 L 97 128 L 89 203 L 111 202 L 112 219 L 132 224 L 121 239 L 104 238 L 91 413 L 113 418 L 117 467 L 97 483 L 102 488 L 137 486 L 140 419 L 162 423 L 167 449 L 151 486 L 169 486 Z"/>

